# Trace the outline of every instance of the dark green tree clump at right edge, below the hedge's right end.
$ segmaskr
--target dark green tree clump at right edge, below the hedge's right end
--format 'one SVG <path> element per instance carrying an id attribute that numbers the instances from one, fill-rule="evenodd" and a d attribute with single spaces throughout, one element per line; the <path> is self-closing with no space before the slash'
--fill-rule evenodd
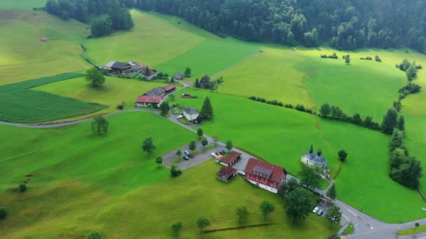
<path id="1" fill-rule="evenodd" d="M 422 178 L 422 166 L 410 156 L 404 145 L 404 131 L 394 129 L 389 143 L 390 178 L 411 189 L 418 189 Z"/>

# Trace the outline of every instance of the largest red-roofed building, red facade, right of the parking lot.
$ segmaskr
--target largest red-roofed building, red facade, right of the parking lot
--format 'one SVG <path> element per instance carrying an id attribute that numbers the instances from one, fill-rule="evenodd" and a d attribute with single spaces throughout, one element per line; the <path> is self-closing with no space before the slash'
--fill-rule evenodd
<path id="1" fill-rule="evenodd" d="M 250 158 L 245 167 L 244 178 L 252 184 L 276 194 L 280 185 L 286 180 L 286 175 L 287 172 L 280 166 Z"/>

